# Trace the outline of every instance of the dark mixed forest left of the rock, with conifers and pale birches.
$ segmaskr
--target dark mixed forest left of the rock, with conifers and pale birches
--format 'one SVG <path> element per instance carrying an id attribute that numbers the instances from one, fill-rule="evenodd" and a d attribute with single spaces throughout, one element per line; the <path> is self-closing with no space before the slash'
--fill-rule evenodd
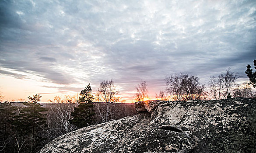
<path id="1" fill-rule="evenodd" d="M 81 90 L 78 104 L 71 103 L 66 96 L 63 100 L 54 97 L 45 107 L 35 94 L 23 102 L 23 107 L 5 101 L 0 103 L 0 152 L 36 153 L 45 144 L 67 132 L 85 126 L 135 115 L 133 104 L 122 103 L 112 80 L 102 81 L 94 97 L 88 84 Z M 93 103 L 94 98 L 99 101 Z"/>

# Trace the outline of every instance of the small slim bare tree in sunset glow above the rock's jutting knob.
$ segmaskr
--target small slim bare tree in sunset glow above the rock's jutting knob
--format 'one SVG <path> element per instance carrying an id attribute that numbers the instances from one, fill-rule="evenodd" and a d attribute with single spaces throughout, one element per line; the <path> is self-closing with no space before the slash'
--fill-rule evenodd
<path id="1" fill-rule="evenodd" d="M 135 94 L 136 101 L 144 101 L 147 98 L 147 83 L 141 80 L 140 84 L 135 87 L 137 93 Z"/>

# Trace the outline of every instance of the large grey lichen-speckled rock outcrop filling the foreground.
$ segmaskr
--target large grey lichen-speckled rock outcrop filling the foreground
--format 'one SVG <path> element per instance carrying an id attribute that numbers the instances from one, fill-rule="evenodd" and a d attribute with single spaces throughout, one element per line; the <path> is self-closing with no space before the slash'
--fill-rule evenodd
<path id="1" fill-rule="evenodd" d="M 54 139 L 39 153 L 253 153 L 256 100 L 140 101 L 137 115 Z"/>

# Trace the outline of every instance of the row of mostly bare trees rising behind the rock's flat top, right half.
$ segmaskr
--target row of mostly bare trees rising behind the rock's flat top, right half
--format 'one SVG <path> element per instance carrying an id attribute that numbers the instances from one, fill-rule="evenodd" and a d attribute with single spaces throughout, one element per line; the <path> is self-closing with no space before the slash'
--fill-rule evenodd
<path id="1" fill-rule="evenodd" d="M 254 69 L 256 69 L 256 60 L 253 63 Z M 230 69 L 218 76 L 211 76 L 208 82 L 208 90 L 205 84 L 200 84 L 200 79 L 197 76 L 186 73 L 172 74 L 165 78 L 165 91 L 161 90 L 155 98 L 171 101 L 219 100 L 231 97 L 256 98 L 256 92 L 252 90 L 252 87 L 256 87 L 256 72 L 253 72 L 248 64 L 245 73 L 250 80 L 249 83 L 237 84 L 236 80 L 240 76 Z M 136 86 L 134 99 L 144 101 L 147 97 L 147 83 L 142 80 Z"/>

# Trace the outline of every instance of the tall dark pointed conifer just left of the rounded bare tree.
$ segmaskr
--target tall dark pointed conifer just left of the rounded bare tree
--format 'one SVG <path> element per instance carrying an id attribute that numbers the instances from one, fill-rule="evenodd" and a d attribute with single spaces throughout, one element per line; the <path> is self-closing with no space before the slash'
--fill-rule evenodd
<path id="1" fill-rule="evenodd" d="M 92 103 L 94 97 L 91 94 L 90 83 L 81 90 L 78 102 L 78 107 L 74 108 L 72 112 L 73 119 L 70 122 L 77 126 L 77 128 L 83 128 L 85 126 L 92 125 L 94 123 L 94 105 Z"/>

